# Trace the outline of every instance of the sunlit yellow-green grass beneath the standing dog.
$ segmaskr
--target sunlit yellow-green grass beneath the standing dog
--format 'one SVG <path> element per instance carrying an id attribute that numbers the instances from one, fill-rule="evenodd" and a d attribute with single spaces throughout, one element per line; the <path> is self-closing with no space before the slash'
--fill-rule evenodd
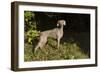
<path id="1" fill-rule="evenodd" d="M 35 41 L 33 41 L 35 42 Z M 57 42 L 49 38 L 48 43 L 33 53 L 34 45 L 25 43 L 24 60 L 25 61 L 47 61 L 47 60 L 68 60 L 68 59 L 86 59 L 88 54 L 84 53 L 77 42 L 69 40 L 60 44 L 57 48 Z"/>

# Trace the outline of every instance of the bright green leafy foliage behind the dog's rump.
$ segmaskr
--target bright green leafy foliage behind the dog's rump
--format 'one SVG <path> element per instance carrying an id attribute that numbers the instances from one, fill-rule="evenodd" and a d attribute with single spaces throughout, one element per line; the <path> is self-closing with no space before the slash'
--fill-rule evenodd
<path id="1" fill-rule="evenodd" d="M 31 11 L 25 11 L 25 40 L 26 43 L 32 44 L 32 41 L 39 36 L 39 31 L 36 30 L 35 14 Z"/>

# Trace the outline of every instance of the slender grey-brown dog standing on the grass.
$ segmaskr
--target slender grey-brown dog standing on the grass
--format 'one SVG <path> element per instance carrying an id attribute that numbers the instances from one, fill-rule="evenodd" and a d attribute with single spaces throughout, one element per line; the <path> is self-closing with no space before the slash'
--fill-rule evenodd
<path id="1" fill-rule="evenodd" d="M 36 52 L 36 50 L 38 48 L 42 49 L 42 47 L 46 44 L 48 37 L 52 37 L 54 39 L 57 39 L 57 48 L 59 49 L 60 40 L 63 37 L 64 25 L 66 25 L 65 20 L 58 20 L 57 26 L 59 28 L 56 27 L 56 28 L 51 29 L 51 30 L 46 30 L 46 31 L 40 32 L 39 42 L 38 42 L 37 46 L 35 47 L 34 52 Z"/>

